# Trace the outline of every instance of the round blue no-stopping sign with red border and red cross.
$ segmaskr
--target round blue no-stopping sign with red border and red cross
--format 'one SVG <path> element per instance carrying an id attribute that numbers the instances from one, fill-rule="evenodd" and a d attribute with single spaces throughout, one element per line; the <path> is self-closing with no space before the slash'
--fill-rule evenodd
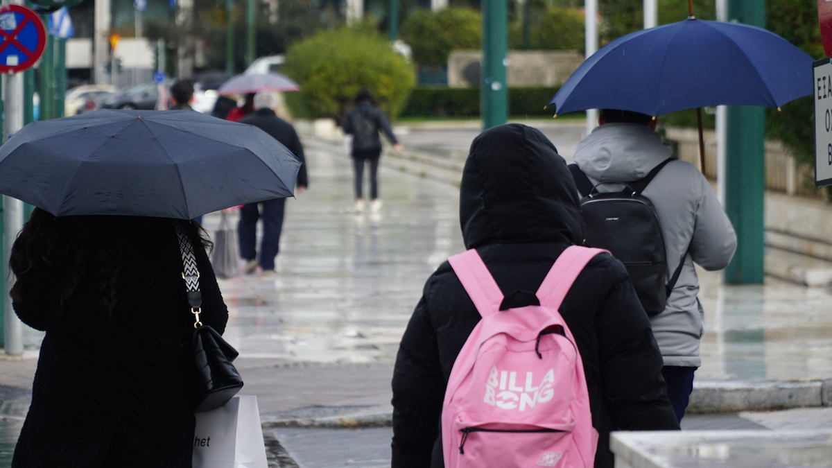
<path id="1" fill-rule="evenodd" d="M 0 72 L 31 68 L 43 55 L 46 42 L 46 27 L 36 12 L 20 5 L 0 7 Z"/>

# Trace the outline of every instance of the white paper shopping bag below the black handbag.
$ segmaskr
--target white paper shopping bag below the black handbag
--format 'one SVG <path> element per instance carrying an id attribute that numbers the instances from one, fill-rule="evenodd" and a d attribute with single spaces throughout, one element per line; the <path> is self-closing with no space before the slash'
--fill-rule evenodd
<path id="1" fill-rule="evenodd" d="M 195 416 L 193 468 L 268 468 L 256 396 Z"/>

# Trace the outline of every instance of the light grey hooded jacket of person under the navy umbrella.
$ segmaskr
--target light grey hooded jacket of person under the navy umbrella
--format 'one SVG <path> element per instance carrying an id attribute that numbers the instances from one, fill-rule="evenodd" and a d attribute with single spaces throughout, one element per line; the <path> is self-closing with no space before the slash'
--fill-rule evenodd
<path id="1" fill-rule="evenodd" d="M 661 137 L 631 123 L 607 123 L 580 142 L 575 163 L 593 184 L 641 179 L 670 157 Z M 598 187 L 602 192 L 620 186 Z M 703 311 L 696 293 L 699 282 L 693 262 L 708 271 L 725 268 L 736 249 L 736 234 L 711 185 L 688 162 L 671 161 L 641 193 L 656 207 L 667 251 L 668 277 L 687 251 L 665 310 L 651 318 L 665 366 L 700 366 L 699 340 Z"/>

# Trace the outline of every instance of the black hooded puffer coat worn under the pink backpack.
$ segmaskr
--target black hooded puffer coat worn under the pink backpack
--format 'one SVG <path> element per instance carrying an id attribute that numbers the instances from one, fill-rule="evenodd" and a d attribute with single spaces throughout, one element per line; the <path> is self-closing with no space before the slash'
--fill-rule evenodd
<path id="1" fill-rule="evenodd" d="M 537 291 L 557 256 L 583 242 L 577 189 L 552 142 L 532 127 L 494 127 L 474 139 L 459 221 L 503 295 Z M 529 304 L 513 304 L 527 306 Z M 626 270 L 600 254 L 560 312 L 587 376 L 597 468 L 613 466 L 610 431 L 678 430 L 661 353 Z M 443 466 L 439 420 L 453 362 L 479 313 L 448 261 L 428 278 L 404 332 L 393 376 L 393 468 Z"/>

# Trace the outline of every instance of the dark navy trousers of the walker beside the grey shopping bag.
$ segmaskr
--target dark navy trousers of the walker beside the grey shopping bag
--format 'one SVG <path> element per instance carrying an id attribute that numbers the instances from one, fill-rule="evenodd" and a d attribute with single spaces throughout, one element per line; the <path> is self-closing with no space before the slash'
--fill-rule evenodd
<path id="1" fill-rule="evenodd" d="M 283 229 L 283 213 L 286 199 L 266 200 L 260 203 L 248 203 L 240 210 L 240 225 L 237 234 L 240 237 L 240 256 L 245 260 L 257 257 L 257 220 L 260 212 L 257 205 L 263 206 L 263 240 L 260 242 L 260 266 L 264 270 L 275 269 L 275 256 L 280 250 L 280 231 Z"/>

